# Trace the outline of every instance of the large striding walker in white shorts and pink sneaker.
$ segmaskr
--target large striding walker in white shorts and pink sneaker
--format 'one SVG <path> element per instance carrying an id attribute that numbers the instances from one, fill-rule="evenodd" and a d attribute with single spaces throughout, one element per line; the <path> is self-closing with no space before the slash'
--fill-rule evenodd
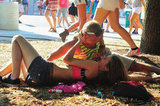
<path id="1" fill-rule="evenodd" d="M 111 28 L 117 32 L 131 47 L 125 56 L 140 54 L 140 49 L 136 46 L 129 33 L 119 24 L 119 7 L 121 9 L 125 7 L 123 0 L 99 0 L 93 19 L 102 25 L 104 20 L 108 18 Z"/>

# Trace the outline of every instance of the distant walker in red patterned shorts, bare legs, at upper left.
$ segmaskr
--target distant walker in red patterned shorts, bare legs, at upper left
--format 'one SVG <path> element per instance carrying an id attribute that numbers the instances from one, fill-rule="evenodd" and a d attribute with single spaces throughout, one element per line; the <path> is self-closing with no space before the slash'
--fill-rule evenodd
<path id="1" fill-rule="evenodd" d="M 50 25 L 49 32 L 56 32 L 56 12 L 58 8 L 58 0 L 46 0 L 45 5 L 46 5 L 45 17 Z M 49 17 L 50 13 L 53 19 L 53 25 Z"/>

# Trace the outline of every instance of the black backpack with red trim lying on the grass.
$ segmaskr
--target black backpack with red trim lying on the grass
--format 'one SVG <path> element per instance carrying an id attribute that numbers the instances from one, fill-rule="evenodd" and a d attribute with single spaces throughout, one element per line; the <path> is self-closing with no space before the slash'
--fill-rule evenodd
<path id="1" fill-rule="evenodd" d="M 155 99 L 153 95 L 147 92 L 142 84 L 135 81 L 120 81 L 117 82 L 113 88 L 113 96 L 122 96 L 144 101 Z"/>

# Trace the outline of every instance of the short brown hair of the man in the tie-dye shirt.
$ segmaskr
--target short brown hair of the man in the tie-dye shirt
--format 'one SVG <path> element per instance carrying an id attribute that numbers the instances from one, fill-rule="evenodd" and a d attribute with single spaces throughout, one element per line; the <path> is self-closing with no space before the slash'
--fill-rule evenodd
<path id="1" fill-rule="evenodd" d="M 103 29 L 97 21 L 92 20 L 84 24 L 82 32 L 93 32 L 96 36 L 100 36 L 103 33 Z"/>

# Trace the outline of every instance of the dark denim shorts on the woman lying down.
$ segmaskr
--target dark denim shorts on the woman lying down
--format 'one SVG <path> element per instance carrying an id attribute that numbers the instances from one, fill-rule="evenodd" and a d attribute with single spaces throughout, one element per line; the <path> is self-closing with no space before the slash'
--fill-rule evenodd
<path id="1" fill-rule="evenodd" d="M 41 56 L 36 57 L 28 69 L 25 82 L 31 85 L 49 85 L 53 80 L 54 64 L 44 60 Z"/>

